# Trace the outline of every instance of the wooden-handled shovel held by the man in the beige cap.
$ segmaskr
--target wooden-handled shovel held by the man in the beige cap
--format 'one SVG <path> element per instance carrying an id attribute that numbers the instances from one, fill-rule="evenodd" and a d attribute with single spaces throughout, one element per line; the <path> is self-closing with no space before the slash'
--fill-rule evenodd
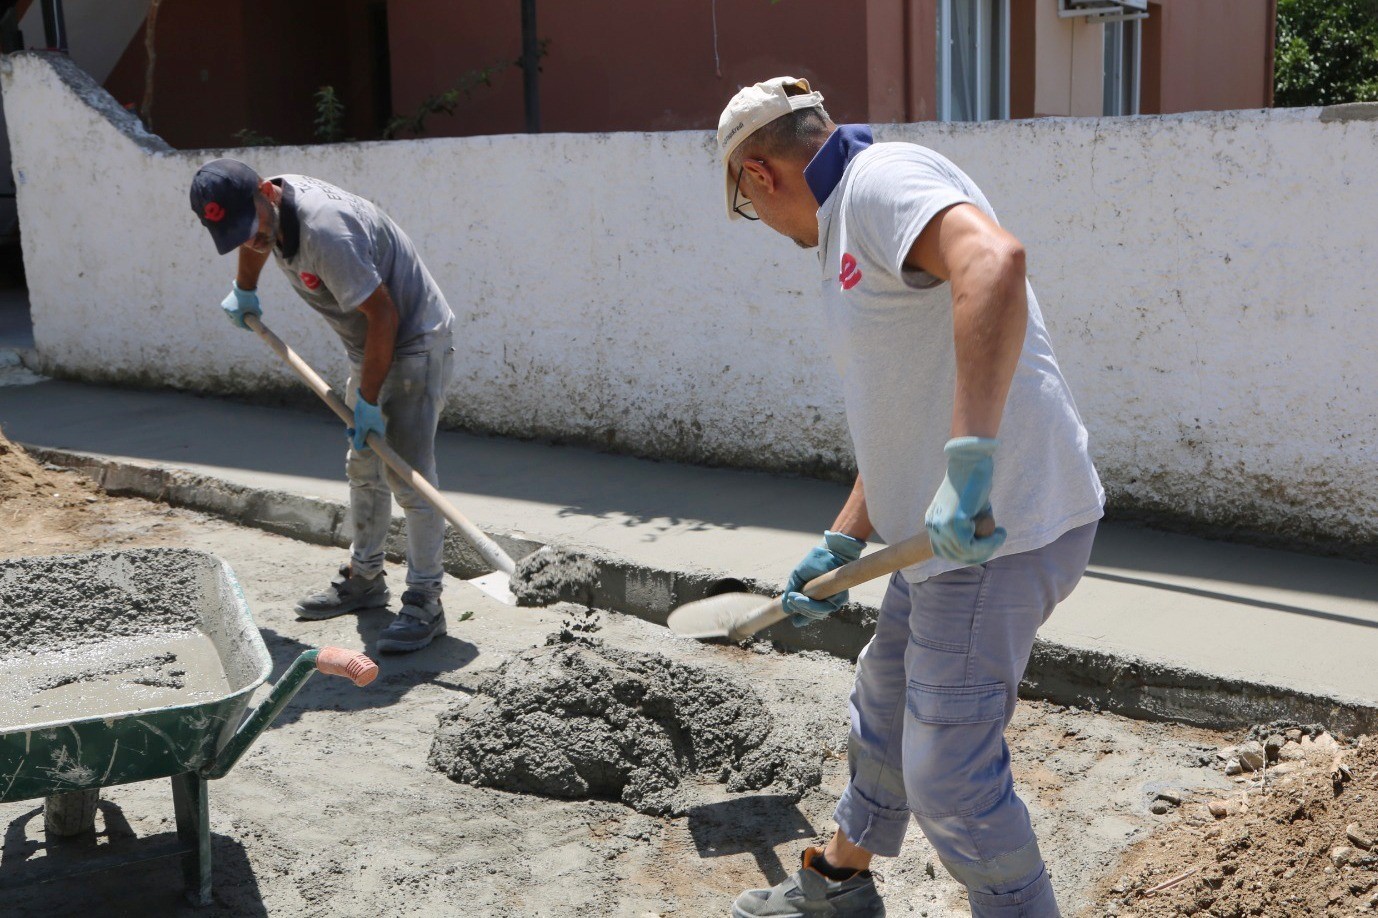
<path id="1" fill-rule="evenodd" d="M 995 520 L 989 516 L 978 517 L 976 521 L 976 535 L 983 539 L 995 532 Z M 856 561 L 834 568 L 827 573 L 809 580 L 801 593 L 810 600 L 825 600 L 843 590 L 850 590 L 867 580 L 894 573 L 915 564 L 923 564 L 933 557 L 933 546 L 929 544 L 929 533 L 921 532 L 904 542 L 896 542 L 879 551 L 863 555 Z M 755 593 L 722 593 L 710 595 L 707 600 L 686 602 L 670 613 L 667 624 L 675 634 L 697 638 L 729 638 L 741 641 L 772 624 L 784 622 L 788 612 L 784 611 L 784 595 L 777 595 L 769 602 L 762 602 L 762 597 Z"/>

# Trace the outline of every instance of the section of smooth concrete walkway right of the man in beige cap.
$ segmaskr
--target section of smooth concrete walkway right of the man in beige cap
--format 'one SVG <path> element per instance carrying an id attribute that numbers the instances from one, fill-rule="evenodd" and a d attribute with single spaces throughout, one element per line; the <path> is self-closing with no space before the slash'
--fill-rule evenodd
<path id="1" fill-rule="evenodd" d="M 1107 525 L 1040 631 L 1072 646 L 1378 699 L 1378 568 Z"/>

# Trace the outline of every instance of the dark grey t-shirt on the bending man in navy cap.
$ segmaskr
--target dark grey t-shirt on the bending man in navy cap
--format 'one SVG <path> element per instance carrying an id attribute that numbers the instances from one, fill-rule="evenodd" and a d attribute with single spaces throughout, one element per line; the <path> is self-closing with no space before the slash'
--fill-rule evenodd
<path id="1" fill-rule="evenodd" d="M 372 201 L 309 175 L 271 179 L 282 189 L 282 243 L 273 249 L 306 305 L 325 317 L 350 361 L 364 360 L 368 317 L 358 310 L 379 284 L 397 305 L 398 356 L 423 353 L 455 314 L 407 233 Z"/>

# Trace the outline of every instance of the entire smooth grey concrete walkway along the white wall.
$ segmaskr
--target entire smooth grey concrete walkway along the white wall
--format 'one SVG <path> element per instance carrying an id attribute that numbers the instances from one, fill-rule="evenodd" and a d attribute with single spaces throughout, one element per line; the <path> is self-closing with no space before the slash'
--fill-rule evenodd
<path id="1" fill-rule="evenodd" d="M 344 437 L 302 412 L 47 382 L 0 389 L 21 442 L 347 500 Z M 441 487 L 480 527 L 650 569 L 783 584 L 846 499 L 836 484 L 442 431 Z M 853 591 L 878 604 L 883 584 Z M 1042 637 L 1378 704 L 1378 568 L 1104 525 Z"/>

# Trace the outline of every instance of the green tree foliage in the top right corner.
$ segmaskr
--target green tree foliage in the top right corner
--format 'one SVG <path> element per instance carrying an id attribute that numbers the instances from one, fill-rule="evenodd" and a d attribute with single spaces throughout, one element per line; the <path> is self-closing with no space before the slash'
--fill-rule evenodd
<path id="1" fill-rule="evenodd" d="M 1378 0 L 1277 0 L 1275 105 L 1378 102 Z"/>

